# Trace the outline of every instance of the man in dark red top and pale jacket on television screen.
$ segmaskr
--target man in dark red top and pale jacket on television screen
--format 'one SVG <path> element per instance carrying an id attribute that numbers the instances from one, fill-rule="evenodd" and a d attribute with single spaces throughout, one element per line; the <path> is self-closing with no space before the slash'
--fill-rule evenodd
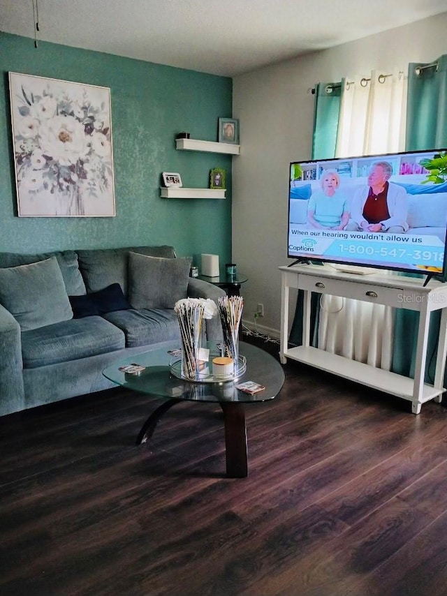
<path id="1" fill-rule="evenodd" d="M 353 196 L 346 230 L 402 234 L 409 229 L 406 190 L 388 182 L 391 174 L 393 166 L 388 161 L 373 163 L 368 186 L 359 188 Z"/>

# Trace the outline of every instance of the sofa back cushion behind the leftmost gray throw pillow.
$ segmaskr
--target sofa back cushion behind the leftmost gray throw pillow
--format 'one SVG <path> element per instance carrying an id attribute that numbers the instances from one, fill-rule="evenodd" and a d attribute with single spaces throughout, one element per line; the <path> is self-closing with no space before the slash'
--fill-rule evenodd
<path id="1" fill-rule="evenodd" d="M 57 258 L 64 278 L 65 287 L 69 296 L 85 294 L 85 284 L 78 267 L 78 255 L 74 251 L 59 251 L 52 253 L 36 253 L 22 255 L 17 253 L 0 253 L 0 267 L 17 267 L 17 265 L 30 265 L 52 257 Z"/>

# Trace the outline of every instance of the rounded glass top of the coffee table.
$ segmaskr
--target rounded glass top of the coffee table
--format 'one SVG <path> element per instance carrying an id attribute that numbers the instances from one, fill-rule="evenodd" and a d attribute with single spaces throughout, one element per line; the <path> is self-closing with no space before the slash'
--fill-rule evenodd
<path id="1" fill-rule="evenodd" d="M 170 364 L 179 359 L 179 356 L 173 356 L 168 352 L 168 350 L 179 347 L 179 342 L 173 342 L 163 348 L 120 359 L 105 368 L 103 375 L 117 385 L 148 394 L 154 398 L 166 397 L 207 402 L 268 401 L 277 396 L 284 383 L 284 371 L 281 364 L 268 352 L 242 341 L 239 343 L 239 352 L 247 358 L 247 370 L 237 380 L 202 383 L 179 379 L 170 372 Z M 208 347 L 216 349 L 216 344 L 210 343 Z M 119 370 L 120 366 L 133 363 L 146 368 L 140 375 L 131 375 Z M 235 387 L 236 384 L 244 381 L 257 382 L 264 385 L 265 389 L 255 394 L 244 393 Z"/>

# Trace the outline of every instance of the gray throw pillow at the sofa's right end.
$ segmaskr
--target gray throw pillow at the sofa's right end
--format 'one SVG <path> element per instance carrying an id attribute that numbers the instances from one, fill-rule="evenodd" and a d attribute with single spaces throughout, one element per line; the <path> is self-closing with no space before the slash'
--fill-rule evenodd
<path id="1" fill-rule="evenodd" d="M 189 259 L 164 259 L 129 253 L 129 302 L 132 308 L 174 308 L 186 298 Z"/>

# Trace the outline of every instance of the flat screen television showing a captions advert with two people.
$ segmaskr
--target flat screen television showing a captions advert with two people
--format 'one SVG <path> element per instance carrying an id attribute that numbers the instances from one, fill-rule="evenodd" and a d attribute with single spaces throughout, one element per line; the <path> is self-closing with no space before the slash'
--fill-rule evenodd
<path id="1" fill-rule="evenodd" d="M 446 149 L 291 162 L 288 258 L 446 281 L 444 172 Z"/>

